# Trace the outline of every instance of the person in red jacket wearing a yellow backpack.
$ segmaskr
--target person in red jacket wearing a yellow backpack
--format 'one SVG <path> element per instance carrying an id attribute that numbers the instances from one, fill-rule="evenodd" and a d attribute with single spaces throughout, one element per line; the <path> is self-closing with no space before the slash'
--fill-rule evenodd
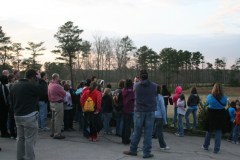
<path id="1" fill-rule="evenodd" d="M 81 106 L 84 112 L 86 128 L 89 128 L 89 140 L 97 141 L 98 114 L 101 110 L 102 93 L 97 90 L 97 83 L 91 82 L 89 89 L 81 96 Z M 93 109 L 92 109 L 93 108 Z"/>

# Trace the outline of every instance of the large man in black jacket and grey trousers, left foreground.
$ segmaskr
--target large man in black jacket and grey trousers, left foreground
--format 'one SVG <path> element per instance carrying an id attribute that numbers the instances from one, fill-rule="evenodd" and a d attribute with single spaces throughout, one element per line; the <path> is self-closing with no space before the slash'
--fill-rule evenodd
<path id="1" fill-rule="evenodd" d="M 38 84 L 37 79 L 40 76 L 34 69 L 29 69 L 25 77 L 11 87 L 10 101 L 17 126 L 17 159 L 35 160 L 38 98 L 46 91 Z"/>

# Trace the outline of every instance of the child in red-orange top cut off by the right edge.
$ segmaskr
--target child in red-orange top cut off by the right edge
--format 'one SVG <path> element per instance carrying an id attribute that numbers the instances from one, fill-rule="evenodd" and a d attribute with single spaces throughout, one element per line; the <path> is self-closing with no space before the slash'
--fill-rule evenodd
<path id="1" fill-rule="evenodd" d="M 239 144 L 238 143 L 238 136 L 240 133 L 240 105 L 239 105 L 239 101 L 236 102 L 236 108 L 237 108 L 237 112 L 236 112 L 236 119 L 235 119 L 235 127 L 233 130 L 233 141 L 232 143 L 234 144 Z"/>

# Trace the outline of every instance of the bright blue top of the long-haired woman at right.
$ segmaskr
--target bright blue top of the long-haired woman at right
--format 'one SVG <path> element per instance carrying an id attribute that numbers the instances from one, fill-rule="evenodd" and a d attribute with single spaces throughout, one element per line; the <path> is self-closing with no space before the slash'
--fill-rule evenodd
<path id="1" fill-rule="evenodd" d="M 210 109 L 224 109 L 227 105 L 227 96 L 222 96 L 220 102 L 223 104 L 220 104 L 218 100 L 212 95 L 209 94 L 207 96 L 206 106 Z"/>

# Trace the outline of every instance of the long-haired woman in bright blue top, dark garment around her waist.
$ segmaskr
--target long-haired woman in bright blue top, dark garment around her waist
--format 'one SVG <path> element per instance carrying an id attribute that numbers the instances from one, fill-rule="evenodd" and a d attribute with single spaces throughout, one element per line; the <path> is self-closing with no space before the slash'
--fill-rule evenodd
<path id="1" fill-rule="evenodd" d="M 206 136 L 203 149 L 208 150 L 210 139 L 215 132 L 214 153 L 220 151 L 222 132 L 225 131 L 227 97 L 224 96 L 223 88 L 220 83 L 215 83 L 212 93 L 207 96 L 206 106 L 208 106 Z"/>

